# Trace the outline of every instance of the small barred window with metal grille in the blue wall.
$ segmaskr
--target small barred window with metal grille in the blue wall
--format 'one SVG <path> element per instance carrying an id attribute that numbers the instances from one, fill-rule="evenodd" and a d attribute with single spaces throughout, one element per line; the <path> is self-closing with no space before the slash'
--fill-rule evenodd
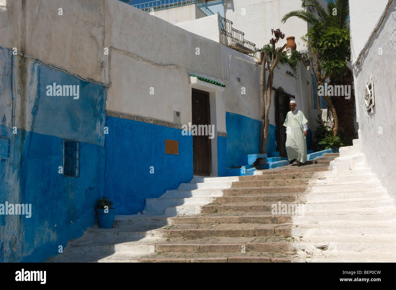
<path id="1" fill-rule="evenodd" d="M 63 139 L 63 176 L 80 177 L 80 142 Z"/>

